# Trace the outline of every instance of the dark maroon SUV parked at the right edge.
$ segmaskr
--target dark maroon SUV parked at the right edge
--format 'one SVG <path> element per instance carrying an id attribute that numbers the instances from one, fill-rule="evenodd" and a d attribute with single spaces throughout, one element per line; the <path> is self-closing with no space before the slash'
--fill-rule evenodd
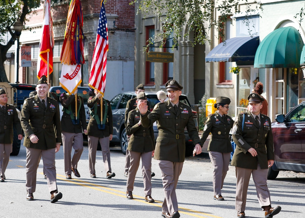
<path id="1" fill-rule="evenodd" d="M 305 173 L 305 102 L 286 115 L 277 115 L 271 129 L 275 160 L 267 178 L 275 179 L 279 170 Z"/>

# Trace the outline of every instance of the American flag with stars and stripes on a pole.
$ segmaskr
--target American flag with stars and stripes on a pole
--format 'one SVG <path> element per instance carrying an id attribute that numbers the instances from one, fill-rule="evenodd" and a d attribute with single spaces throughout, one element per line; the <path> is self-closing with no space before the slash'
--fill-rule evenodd
<path id="1" fill-rule="evenodd" d="M 108 51 L 108 29 L 104 1 L 102 1 L 101 13 L 99 15 L 99 26 L 96 34 L 95 48 L 93 51 L 89 86 L 105 92 L 106 85 L 106 63 Z"/>

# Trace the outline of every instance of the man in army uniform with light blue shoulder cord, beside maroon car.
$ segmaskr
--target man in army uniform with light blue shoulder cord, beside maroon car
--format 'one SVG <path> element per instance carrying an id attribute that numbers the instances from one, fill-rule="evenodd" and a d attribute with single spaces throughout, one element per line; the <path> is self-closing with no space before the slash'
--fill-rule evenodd
<path id="1" fill-rule="evenodd" d="M 267 187 L 268 167 L 274 163 L 273 136 L 271 120 L 260 113 L 264 99 L 257 93 L 248 96 L 249 111 L 239 114 L 232 129 L 232 138 L 236 143 L 231 165 L 236 173 L 237 217 L 246 217 L 246 199 L 250 176 L 256 187 L 258 201 L 265 211 L 265 218 L 273 217 L 281 207 L 272 208 L 270 192 Z"/>

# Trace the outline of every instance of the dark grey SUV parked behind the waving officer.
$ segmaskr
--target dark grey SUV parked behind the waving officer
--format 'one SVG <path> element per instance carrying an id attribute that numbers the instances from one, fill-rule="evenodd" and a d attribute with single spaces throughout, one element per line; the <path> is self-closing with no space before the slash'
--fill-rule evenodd
<path id="1" fill-rule="evenodd" d="M 159 103 L 160 101 L 157 98 L 156 92 L 145 92 L 145 94 L 146 94 L 147 100 L 149 101 L 149 104 L 150 104 L 150 111 L 152 111 L 152 109 L 155 107 L 155 105 L 157 103 Z M 128 100 L 135 98 L 135 97 L 136 97 L 135 92 L 125 92 L 125 93 L 118 94 L 110 101 L 112 115 L 113 115 L 112 142 L 120 144 L 123 154 L 126 154 L 126 149 L 128 146 L 127 134 L 126 134 L 125 123 L 124 123 L 126 104 L 127 104 Z M 179 100 L 182 103 L 191 106 L 186 95 L 179 96 Z M 192 111 L 192 113 L 194 115 L 194 121 L 195 121 L 196 128 L 198 129 L 197 112 Z M 153 129 L 154 129 L 154 137 L 156 140 L 156 138 L 158 136 L 158 129 L 157 129 L 156 123 L 154 123 Z M 186 129 L 185 129 L 185 146 L 186 146 L 185 156 L 192 155 L 195 145 L 194 145 L 193 141 L 190 139 L 190 137 L 188 136 L 188 132 Z"/>

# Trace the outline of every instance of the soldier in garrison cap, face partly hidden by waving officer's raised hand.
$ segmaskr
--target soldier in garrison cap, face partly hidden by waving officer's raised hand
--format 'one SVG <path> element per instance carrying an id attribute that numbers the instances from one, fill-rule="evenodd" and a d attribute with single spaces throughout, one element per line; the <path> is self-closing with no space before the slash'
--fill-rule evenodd
<path id="1" fill-rule="evenodd" d="M 143 102 L 147 105 L 147 97 L 144 92 L 137 95 L 136 103 Z M 150 113 L 150 111 L 148 111 Z M 144 182 L 145 201 L 155 202 L 151 197 L 151 166 L 152 166 L 152 151 L 155 149 L 155 139 L 152 126 L 143 127 L 140 121 L 140 111 L 138 107 L 128 113 L 127 120 L 127 135 L 130 136 L 127 150 L 130 155 L 130 167 L 127 176 L 126 196 L 128 199 L 133 199 L 132 191 L 135 183 L 135 176 L 142 159 L 142 175 Z"/>

